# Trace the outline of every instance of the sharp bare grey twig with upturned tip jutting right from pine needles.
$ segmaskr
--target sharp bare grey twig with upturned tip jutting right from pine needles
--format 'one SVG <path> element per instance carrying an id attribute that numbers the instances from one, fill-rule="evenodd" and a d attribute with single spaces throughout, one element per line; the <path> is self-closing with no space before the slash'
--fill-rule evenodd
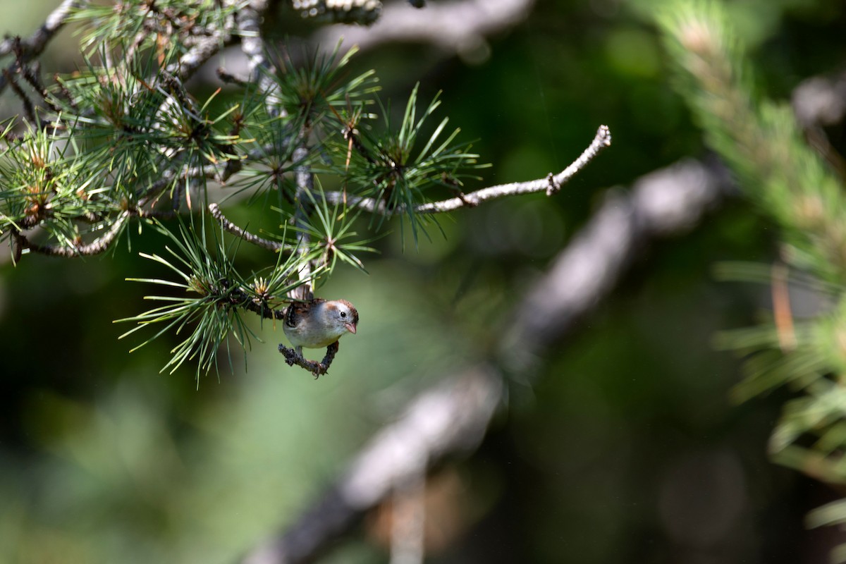
<path id="1" fill-rule="evenodd" d="M 490 188 L 483 188 L 451 198 L 449 200 L 442 200 L 439 202 L 430 202 L 427 204 L 420 204 L 415 206 L 415 213 L 443 213 L 446 211 L 458 210 L 465 206 L 479 205 L 488 200 L 497 200 L 498 198 L 505 198 L 506 196 L 515 196 L 519 194 L 533 194 L 536 192 L 545 192 L 547 195 L 552 195 L 561 189 L 563 183 L 567 183 L 570 178 L 573 178 L 577 172 L 587 165 L 588 162 L 599 154 L 602 149 L 611 145 L 611 131 L 606 125 L 600 126 L 596 130 L 596 136 L 588 145 L 587 149 L 577 158 L 569 167 L 558 174 L 550 174 L 547 178 L 538 180 L 530 180 L 528 182 L 513 182 L 508 184 L 499 184 L 491 186 Z M 344 194 L 342 192 L 327 192 L 325 195 L 327 201 L 331 204 L 338 204 L 343 202 Z M 346 202 L 349 207 L 360 208 L 365 211 L 376 212 L 383 216 L 393 216 L 405 213 L 405 206 L 398 205 L 394 208 L 387 208 L 384 202 L 380 201 L 376 204 L 376 200 L 372 198 L 361 198 L 358 196 L 346 195 Z"/>

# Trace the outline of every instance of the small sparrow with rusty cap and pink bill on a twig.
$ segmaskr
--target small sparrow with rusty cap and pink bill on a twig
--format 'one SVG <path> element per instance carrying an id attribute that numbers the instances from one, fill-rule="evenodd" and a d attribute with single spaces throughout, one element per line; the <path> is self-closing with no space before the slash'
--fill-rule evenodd
<path id="1" fill-rule="evenodd" d="M 359 312 L 347 300 L 313 298 L 288 306 L 283 330 L 297 354 L 302 356 L 303 347 L 328 347 L 347 331 L 355 334 L 358 324 Z"/>

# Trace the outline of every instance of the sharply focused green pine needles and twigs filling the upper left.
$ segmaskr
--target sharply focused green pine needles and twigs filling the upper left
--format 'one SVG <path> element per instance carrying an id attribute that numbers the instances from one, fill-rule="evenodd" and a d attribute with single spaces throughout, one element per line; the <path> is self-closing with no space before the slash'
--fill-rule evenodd
<path id="1" fill-rule="evenodd" d="M 8 86 L 23 106 L 0 123 L 0 240 L 18 261 L 28 253 L 98 255 L 124 248 L 118 242 L 130 233 L 164 233 L 168 252 L 146 256 L 172 278 L 140 282 L 169 293 L 123 320 L 137 324 L 126 336 L 151 331 L 143 343 L 170 331 L 184 338 L 163 370 L 188 361 L 198 377 L 217 369 L 219 350 L 249 348 L 258 338 L 246 313 L 280 320 L 287 304 L 311 298 L 338 264 L 364 271 L 362 255 L 390 218 L 416 244 L 435 213 L 549 192 L 610 144 L 603 126 L 578 166 L 467 199 L 464 182 L 484 165 L 440 114 L 438 96 L 421 100 L 415 86 L 397 119 L 391 102 L 377 97 L 374 71 L 350 73 L 354 48 L 292 57 L 266 47 L 260 21 L 270 6 L 65 0 L 58 12 L 81 26 L 84 64 L 47 81 L 31 63 L 45 37 L 13 38 L 0 48 L 8 63 L 0 90 Z M 381 3 L 294 8 L 369 23 Z M 218 71 L 235 94 L 199 96 L 186 86 L 222 47 L 239 43 L 250 75 Z M 271 211 L 277 227 L 250 233 L 231 222 L 222 205 L 243 200 Z M 241 244 L 269 251 L 268 266 L 242 272 Z"/>

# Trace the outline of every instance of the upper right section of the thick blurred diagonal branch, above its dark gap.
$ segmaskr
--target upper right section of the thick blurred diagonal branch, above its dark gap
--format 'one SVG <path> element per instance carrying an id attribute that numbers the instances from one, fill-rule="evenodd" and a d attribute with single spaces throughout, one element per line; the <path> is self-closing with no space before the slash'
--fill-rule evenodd
<path id="1" fill-rule="evenodd" d="M 611 292 L 636 251 L 693 227 L 731 186 L 716 159 L 689 159 L 641 177 L 628 194 L 609 192 L 515 310 L 503 340 L 503 363 L 513 370 L 530 368 L 536 355 Z"/>

